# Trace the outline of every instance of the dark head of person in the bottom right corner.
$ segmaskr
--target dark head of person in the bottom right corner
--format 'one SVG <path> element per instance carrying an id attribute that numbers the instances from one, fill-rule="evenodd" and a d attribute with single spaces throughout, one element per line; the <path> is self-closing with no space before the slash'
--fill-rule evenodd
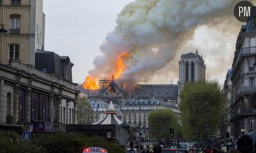
<path id="1" fill-rule="evenodd" d="M 252 153 L 253 140 L 249 135 L 241 135 L 235 142 L 238 153 Z"/>

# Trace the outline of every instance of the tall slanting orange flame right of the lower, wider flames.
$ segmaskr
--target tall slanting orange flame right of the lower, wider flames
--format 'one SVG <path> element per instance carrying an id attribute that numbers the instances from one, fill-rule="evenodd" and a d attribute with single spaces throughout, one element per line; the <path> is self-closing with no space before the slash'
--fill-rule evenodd
<path id="1" fill-rule="evenodd" d="M 120 77 L 124 72 L 125 65 L 124 61 L 130 57 L 128 53 L 122 52 L 121 55 L 118 55 L 117 62 L 113 71 L 113 77 Z"/>

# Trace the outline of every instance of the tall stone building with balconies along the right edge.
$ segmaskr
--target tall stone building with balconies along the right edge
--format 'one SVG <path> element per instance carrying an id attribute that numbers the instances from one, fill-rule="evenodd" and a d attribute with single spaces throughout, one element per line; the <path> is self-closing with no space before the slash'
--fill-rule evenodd
<path id="1" fill-rule="evenodd" d="M 241 26 L 237 36 L 236 51 L 234 53 L 230 80 L 233 83 L 233 134 L 234 139 L 241 135 L 241 129 L 245 134 L 254 131 L 256 109 L 251 104 L 255 102 L 256 71 L 253 63 L 256 58 L 256 10 L 253 7 L 251 17 L 246 25 Z"/>

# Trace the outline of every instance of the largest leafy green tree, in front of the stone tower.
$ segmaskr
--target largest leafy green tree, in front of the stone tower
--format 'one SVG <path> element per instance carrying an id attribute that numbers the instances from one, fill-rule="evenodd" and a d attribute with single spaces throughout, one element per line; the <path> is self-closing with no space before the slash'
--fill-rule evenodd
<path id="1" fill-rule="evenodd" d="M 196 139 L 196 131 L 201 138 L 215 133 L 223 121 L 222 87 L 217 80 L 190 82 L 185 84 L 180 94 L 182 134 L 188 140 Z"/>

